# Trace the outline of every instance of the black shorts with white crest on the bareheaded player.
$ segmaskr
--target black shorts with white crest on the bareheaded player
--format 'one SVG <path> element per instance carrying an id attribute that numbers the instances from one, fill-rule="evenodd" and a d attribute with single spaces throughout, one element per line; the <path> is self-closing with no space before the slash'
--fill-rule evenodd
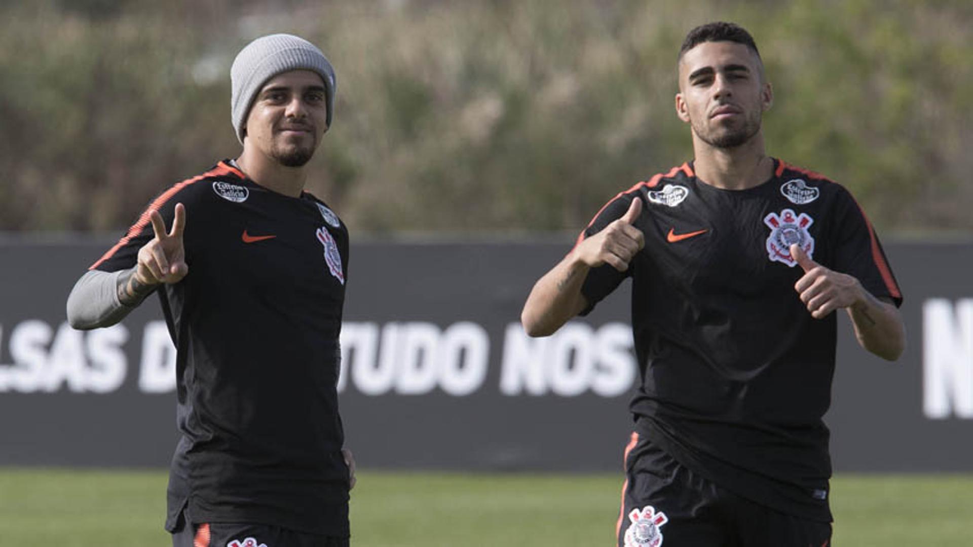
<path id="1" fill-rule="evenodd" d="M 619 547 L 828 547 L 831 524 L 720 488 L 638 433 L 625 451 Z M 665 540 L 665 542 L 664 542 Z"/>

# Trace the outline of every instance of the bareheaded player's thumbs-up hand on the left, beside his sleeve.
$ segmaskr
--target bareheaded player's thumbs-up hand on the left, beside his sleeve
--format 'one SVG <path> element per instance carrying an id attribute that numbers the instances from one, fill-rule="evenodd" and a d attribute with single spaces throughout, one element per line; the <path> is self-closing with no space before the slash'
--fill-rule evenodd
<path id="1" fill-rule="evenodd" d="M 629 269 L 631 259 L 645 246 L 645 236 L 635 228 L 642 213 L 642 200 L 632 196 L 629 210 L 595 236 L 583 239 L 574 248 L 578 258 L 591 268 L 608 264 L 619 272 Z"/>

